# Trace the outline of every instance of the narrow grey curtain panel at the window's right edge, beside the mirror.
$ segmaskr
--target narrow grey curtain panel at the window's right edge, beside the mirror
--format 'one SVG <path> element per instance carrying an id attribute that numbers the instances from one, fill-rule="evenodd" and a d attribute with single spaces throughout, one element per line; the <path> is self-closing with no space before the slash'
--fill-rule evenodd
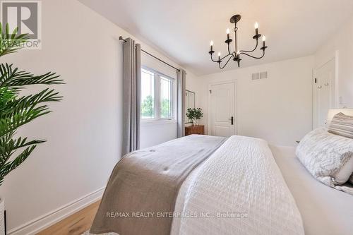
<path id="1" fill-rule="evenodd" d="M 177 71 L 177 82 L 178 82 L 178 104 L 177 104 L 177 121 L 178 121 L 178 129 L 177 129 L 177 137 L 183 137 L 185 135 L 185 83 L 186 83 L 186 71 L 183 69 L 179 69 Z"/>

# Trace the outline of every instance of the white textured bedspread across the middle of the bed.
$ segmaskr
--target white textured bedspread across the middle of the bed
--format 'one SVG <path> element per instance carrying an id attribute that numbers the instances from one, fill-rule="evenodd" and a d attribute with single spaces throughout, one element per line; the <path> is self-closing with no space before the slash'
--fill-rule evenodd
<path id="1" fill-rule="evenodd" d="M 175 211 L 185 214 L 172 234 L 304 234 L 268 143 L 256 138 L 230 137 L 184 181 Z"/>

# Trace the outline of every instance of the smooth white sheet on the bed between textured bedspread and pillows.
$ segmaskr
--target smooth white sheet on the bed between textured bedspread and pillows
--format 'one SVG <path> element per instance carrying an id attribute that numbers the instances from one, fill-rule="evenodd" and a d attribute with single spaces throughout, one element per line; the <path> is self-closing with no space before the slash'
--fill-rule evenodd
<path id="1" fill-rule="evenodd" d="M 297 203 L 305 234 L 353 234 L 353 195 L 316 181 L 295 156 L 295 147 L 270 149 Z"/>

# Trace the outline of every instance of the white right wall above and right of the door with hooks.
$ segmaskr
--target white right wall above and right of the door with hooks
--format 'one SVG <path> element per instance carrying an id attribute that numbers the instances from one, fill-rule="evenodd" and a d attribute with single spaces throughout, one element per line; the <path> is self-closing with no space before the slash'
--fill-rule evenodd
<path id="1" fill-rule="evenodd" d="M 326 41 L 315 54 L 315 66 L 323 65 L 338 50 L 338 97 L 340 107 L 353 108 L 353 18 Z"/>

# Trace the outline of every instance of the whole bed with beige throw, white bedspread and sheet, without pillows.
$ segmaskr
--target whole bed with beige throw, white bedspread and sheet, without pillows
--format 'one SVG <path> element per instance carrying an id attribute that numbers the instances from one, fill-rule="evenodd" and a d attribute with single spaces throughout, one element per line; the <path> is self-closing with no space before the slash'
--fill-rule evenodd
<path id="1" fill-rule="evenodd" d="M 91 233 L 352 234 L 353 196 L 313 179 L 294 150 L 189 135 L 133 152 L 116 165 Z"/>

